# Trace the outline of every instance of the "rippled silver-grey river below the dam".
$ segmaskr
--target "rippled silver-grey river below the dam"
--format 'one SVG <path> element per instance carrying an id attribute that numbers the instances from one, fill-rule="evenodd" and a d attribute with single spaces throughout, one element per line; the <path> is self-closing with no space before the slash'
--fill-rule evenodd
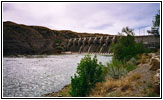
<path id="1" fill-rule="evenodd" d="M 40 97 L 71 81 L 84 54 L 3 58 L 3 97 Z M 93 57 L 93 55 L 91 55 Z M 97 55 L 102 64 L 111 56 Z"/>

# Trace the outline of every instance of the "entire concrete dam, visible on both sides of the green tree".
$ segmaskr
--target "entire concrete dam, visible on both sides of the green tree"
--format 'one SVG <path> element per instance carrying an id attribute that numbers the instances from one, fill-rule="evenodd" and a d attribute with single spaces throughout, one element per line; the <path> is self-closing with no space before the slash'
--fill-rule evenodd
<path id="1" fill-rule="evenodd" d="M 67 43 L 67 50 L 79 53 L 110 53 L 109 48 L 112 42 L 116 43 L 117 36 L 82 37 L 71 38 Z M 159 39 L 153 36 L 136 36 L 136 42 L 142 42 L 145 46 L 151 47 L 159 44 Z"/>

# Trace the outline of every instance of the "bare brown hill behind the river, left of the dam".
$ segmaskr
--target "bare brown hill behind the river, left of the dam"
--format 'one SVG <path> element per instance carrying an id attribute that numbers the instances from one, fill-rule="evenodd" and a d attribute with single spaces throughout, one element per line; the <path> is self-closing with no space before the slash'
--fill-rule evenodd
<path id="1" fill-rule="evenodd" d="M 106 36 L 106 34 L 77 33 L 51 30 L 42 26 L 27 26 L 3 22 L 3 55 L 56 54 L 64 49 L 69 38 Z"/>

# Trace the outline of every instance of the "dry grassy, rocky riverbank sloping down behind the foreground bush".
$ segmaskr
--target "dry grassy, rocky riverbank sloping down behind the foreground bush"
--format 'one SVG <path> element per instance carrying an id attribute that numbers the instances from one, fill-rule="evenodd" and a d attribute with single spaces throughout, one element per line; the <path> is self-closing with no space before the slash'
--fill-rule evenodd
<path id="1" fill-rule="evenodd" d="M 160 52 L 142 54 L 137 68 L 118 80 L 107 77 L 97 83 L 88 97 L 159 97 Z M 70 97 L 70 84 L 45 97 Z"/>

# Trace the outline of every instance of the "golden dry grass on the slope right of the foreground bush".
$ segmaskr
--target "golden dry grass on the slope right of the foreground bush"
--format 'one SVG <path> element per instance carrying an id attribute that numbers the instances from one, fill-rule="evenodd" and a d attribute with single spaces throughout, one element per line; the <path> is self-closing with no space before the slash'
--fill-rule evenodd
<path id="1" fill-rule="evenodd" d="M 108 78 L 105 82 L 97 83 L 89 97 L 148 97 L 158 96 L 149 80 L 144 80 L 143 74 L 131 73 L 118 80 Z M 150 87 L 150 88 L 149 88 Z"/>

